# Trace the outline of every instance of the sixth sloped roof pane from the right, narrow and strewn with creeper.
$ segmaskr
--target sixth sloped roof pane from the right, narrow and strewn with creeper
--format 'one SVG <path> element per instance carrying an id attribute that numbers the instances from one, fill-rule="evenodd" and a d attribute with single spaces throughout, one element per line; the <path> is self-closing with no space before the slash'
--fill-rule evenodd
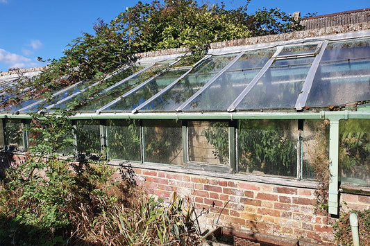
<path id="1" fill-rule="evenodd" d="M 102 91 L 100 87 L 92 90 L 90 89 L 89 91 L 86 91 L 87 93 L 85 93 L 85 95 L 78 96 L 78 98 L 82 99 L 86 96 L 86 94 L 89 95 L 88 99 L 85 99 L 84 103 L 81 106 L 76 107 L 76 109 L 81 112 L 94 112 L 104 105 L 110 103 L 112 100 L 115 100 L 119 96 L 135 88 L 137 85 L 140 85 L 145 80 L 155 76 L 160 71 L 165 69 L 169 64 L 171 64 L 171 62 L 174 62 L 174 60 L 157 62 L 155 65 L 153 65 L 153 67 L 143 71 L 133 78 L 130 78 L 129 80 L 126 80 L 126 82 L 108 91 Z"/>

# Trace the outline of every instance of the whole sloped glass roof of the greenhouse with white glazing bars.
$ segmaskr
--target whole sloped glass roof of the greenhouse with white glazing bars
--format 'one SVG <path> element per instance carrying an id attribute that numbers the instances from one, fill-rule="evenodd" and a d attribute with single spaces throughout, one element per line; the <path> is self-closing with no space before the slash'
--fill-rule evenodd
<path id="1" fill-rule="evenodd" d="M 246 112 L 366 103 L 370 100 L 370 33 L 210 51 L 192 66 L 174 55 L 146 58 L 106 78 L 23 100 L 3 112 Z M 0 79 L 0 94 L 15 79 Z"/>

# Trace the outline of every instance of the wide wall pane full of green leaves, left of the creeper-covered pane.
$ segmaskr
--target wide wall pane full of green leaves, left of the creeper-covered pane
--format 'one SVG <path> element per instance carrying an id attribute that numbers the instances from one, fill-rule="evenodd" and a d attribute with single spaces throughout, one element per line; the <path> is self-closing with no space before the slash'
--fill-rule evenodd
<path id="1" fill-rule="evenodd" d="M 296 177 L 297 139 L 297 121 L 239 121 L 239 173 Z"/>

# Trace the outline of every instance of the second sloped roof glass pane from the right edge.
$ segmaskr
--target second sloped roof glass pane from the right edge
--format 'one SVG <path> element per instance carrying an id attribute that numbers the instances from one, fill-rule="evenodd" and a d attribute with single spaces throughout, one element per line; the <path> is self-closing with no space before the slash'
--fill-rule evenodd
<path id="1" fill-rule="evenodd" d="M 276 60 L 237 109 L 292 108 L 314 58 Z"/>

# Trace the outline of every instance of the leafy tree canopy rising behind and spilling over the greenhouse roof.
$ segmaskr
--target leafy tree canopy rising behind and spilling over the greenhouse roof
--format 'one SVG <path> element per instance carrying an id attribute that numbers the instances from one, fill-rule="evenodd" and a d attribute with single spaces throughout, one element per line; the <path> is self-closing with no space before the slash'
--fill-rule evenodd
<path id="1" fill-rule="evenodd" d="M 83 33 L 67 45 L 59 60 L 31 81 L 35 88 L 12 88 L 14 100 L 44 95 L 85 78 L 106 74 L 129 62 L 134 53 L 187 47 L 201 56 L 211 42 L 300 30 L 298 21 L 278 8 L 263 8 L 254 14 L 245 6 L 226 10 L 221 5 L 199 5 L 195 0 L 138 2 L 106 23 L 94 24 L 94 35 Z M 42 58 L 39 58 L 42 60 Z M 20 85 L 22 87 L 22 85 Z M 15 91 L 23 91 L 22 95 Z M 14 102 L 16 103 L 16 102 Z M 8 102 L 6 104 L 12 104 Z"/>

